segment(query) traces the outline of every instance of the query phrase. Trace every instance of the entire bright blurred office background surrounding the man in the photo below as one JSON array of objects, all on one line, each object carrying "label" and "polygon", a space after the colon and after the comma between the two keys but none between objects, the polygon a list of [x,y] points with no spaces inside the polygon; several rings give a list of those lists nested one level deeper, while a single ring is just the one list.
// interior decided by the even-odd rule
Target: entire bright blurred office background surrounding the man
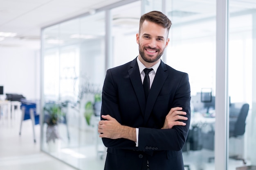
[{"label": "entire bright blurred office background surrounding the man", "polygon": [[139,18],[152,10],[173,23],[162,60],[190,78],[185,169],[256,166],[254,0],[0,2],[0,32],[20,31],[0,33],[0,169],[103,169],[106,70],[138,55]]}]

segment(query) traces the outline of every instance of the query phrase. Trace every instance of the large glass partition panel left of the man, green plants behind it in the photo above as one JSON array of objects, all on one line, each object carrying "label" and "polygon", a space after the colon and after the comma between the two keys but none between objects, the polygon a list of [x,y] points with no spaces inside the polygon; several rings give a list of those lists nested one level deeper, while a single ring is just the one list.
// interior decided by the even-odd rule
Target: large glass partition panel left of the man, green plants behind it
[{"label": "large glass partition panel left of the man, green plants behind it", "polygon": [[104,44],[104,11],[43,30],[41,148],[81,170],[104,166],[105,148],[97,133]]}]

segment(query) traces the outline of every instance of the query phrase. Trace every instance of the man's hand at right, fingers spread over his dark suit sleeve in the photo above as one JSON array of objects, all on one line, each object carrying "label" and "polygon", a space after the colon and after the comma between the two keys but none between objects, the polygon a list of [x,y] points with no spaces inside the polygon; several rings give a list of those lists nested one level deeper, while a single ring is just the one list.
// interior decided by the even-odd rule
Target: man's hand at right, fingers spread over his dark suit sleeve
[{"label": "man's hand at right, fingers spread over his dark suit sleeve", "polygon": [[188,120],[187,117],[182,116],[182,115],[186,115],[186,112],[181,110],[182,110],[182,107],[171,108],[168,115],[165,117],[164,126],[162,127],[162,129],[172,129],[173,126],[177,126],[177,125],[185,126],[186,123],[177,121],[177,120]]}]

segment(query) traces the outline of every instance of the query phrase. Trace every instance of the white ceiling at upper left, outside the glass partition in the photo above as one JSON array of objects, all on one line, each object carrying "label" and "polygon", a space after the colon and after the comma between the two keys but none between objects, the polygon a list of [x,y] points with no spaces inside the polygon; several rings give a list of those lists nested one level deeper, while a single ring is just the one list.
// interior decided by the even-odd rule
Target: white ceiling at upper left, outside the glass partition
[{"label": "white ceiling at upper left, outside the glass partition", "polygon": [[1,46],[40,48],[40,29],[121,0],[0,0],[0,32],[17,33]]}]

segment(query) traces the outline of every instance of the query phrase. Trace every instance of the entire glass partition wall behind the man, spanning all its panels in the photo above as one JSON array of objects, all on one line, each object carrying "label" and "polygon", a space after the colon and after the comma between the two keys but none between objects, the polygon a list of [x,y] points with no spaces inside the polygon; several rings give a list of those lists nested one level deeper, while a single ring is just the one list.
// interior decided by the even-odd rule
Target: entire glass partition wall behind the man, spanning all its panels
[{"label": "entire glass partition wall behind the man, spanning all its panels", "polygon": [[[249,104],[245,133],[228,141],[230,170],[256,164],[255,8],[255,2],[229,0],[228,110],[233,117],[228,120],[236,120],[231,112],[238,114],[233,104]],[[97,124],[106,69],[135,59],[139,18],[152,10],[164,12],[173,23],[162,60],[189,74],[191,127],[183,148],[185,169],[216,169],[216,0],[127,0],[43,28],[43,151],[77,169],[103,169],[106,148]],[[228,126],[230,130],[234,123]]]}]

